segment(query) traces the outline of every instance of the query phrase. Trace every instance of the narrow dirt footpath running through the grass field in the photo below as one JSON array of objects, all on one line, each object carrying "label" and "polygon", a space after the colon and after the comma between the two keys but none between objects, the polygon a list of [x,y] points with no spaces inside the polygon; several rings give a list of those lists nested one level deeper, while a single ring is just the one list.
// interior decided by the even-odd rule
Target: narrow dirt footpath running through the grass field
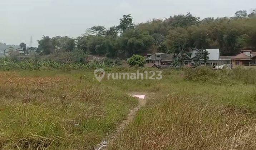
[{"label": "narrow dirt footpath running through the grass field", "polygon": [[112,143],[115,138],[124,130],[125,126],[127,126],[135,117],[136,112],[142,107],[146,105],[147,100],[149,99],[149,94],[145,93],[132,93],[129,95],[145,95],[145,99],[138,99],[139,103],[138,106],[135,107],[134,109],[130,110],[128,116],[126,117],[125,120],[117,127],[116,132],[113,134],[110,134],[109,136],[106,137],[105,140],[103,140],[100,144],[98,144],[94,150],[107,150],[107,146],[109,143]]}]

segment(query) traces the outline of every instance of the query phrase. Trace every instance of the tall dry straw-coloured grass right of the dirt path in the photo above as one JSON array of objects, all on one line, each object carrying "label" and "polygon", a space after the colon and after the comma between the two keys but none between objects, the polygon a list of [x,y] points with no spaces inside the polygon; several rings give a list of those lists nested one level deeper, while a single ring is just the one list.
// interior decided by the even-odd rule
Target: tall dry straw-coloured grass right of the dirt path
[{"label": "tall dry straw-coloured grass right of the dirt path", "polygon": [[109,149],[256,149],[256,117],[206,99],[161,97],[140,110]]}]

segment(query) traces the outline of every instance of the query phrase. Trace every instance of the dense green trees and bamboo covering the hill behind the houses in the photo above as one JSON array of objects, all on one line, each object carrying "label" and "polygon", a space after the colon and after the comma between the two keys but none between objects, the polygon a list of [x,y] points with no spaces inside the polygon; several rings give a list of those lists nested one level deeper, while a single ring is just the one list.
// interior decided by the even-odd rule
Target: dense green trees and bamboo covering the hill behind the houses
[{"label": "dense green trees and bamboo covering the hill behind the houses", "polygon": [[241,10],[233,17],[202,20],[188,12],[137,25],[128,14],[109,29],[93,26],[75,39],[43,36],[38,44],[38,52],[56,56],[78,51],[126,59],[134,54],[186,53],[190,48],[220,48],[222,55],[235,55],[241,48],[256,50],[256,9],[250,14]]}]

